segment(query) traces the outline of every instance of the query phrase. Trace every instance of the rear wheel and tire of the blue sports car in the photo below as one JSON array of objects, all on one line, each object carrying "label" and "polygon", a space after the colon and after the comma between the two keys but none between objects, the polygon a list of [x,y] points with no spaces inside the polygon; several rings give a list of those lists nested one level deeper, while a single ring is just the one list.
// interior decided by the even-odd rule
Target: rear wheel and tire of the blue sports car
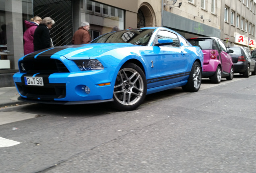
[{"label": "rear wheel and tire of the blue sports car", "polygon": [[196,92],[200,89],[201,82],[202,68],[199,62],[194,62],[188,77],[188,82],[186,83],[186,85],[182,86],[182,89],[188,92]]}]

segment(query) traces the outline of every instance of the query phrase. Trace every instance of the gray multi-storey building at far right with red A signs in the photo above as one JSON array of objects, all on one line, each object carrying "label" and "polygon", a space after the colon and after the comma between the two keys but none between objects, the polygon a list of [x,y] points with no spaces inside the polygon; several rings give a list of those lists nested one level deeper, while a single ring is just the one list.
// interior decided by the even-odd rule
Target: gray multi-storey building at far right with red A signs
[{"label": "gray multi-storey building at far right with red A signs", "polygon": [[[225,3],[224,3],[225,2]],[[221,4],[221,37],[229,46],[256,48],[256,1],[225,0]]]}]

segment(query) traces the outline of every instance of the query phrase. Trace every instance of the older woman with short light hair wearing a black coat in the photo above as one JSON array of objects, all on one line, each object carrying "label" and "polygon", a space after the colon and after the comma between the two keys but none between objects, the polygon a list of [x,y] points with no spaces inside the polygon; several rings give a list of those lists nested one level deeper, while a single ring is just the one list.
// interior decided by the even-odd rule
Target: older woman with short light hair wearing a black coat
[{"label": "older woman with short light hair wearing a black coat", "polygon": [[37,26],[34,32],[34,51],[51,47],[50,29],[54,23],[52,18],[46,17]]}]

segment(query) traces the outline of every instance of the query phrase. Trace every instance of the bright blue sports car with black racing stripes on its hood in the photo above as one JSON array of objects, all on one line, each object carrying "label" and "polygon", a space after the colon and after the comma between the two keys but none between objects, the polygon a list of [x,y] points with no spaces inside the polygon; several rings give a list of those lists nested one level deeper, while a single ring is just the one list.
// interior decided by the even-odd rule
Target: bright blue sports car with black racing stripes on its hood
[{"label": "bright blue sports car with black racing stripes on its hood", "polygon": [[19,60],[19,100],[50,104],[112,102],[136,109],[147,94],[201,85],[202,50],[173,30],[154,27],[103,34],[90,44],[39,50]]}]

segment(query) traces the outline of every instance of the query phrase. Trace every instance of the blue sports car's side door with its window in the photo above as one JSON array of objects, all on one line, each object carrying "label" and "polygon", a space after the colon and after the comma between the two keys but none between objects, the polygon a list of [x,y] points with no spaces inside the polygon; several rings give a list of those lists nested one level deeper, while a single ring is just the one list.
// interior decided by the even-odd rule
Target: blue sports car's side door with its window
[{"label": "blue sports car's side door with its window", "polygon": [[184,80],[187,77],[184,76],[184,73],[188,68],[188,54],[180,46],[178,36],[167,30],[160,30],[157,33],[155,43],[160,38],[172,39],[173,44],[153,46],[152,51],[147,52],[147,58],[145,58],[147,64],[153,66],[151,67],[152,70],[155,69],[155,75],[151,73],[151,76],[154,76],[152,81],[157,82],[157,87]]}]

